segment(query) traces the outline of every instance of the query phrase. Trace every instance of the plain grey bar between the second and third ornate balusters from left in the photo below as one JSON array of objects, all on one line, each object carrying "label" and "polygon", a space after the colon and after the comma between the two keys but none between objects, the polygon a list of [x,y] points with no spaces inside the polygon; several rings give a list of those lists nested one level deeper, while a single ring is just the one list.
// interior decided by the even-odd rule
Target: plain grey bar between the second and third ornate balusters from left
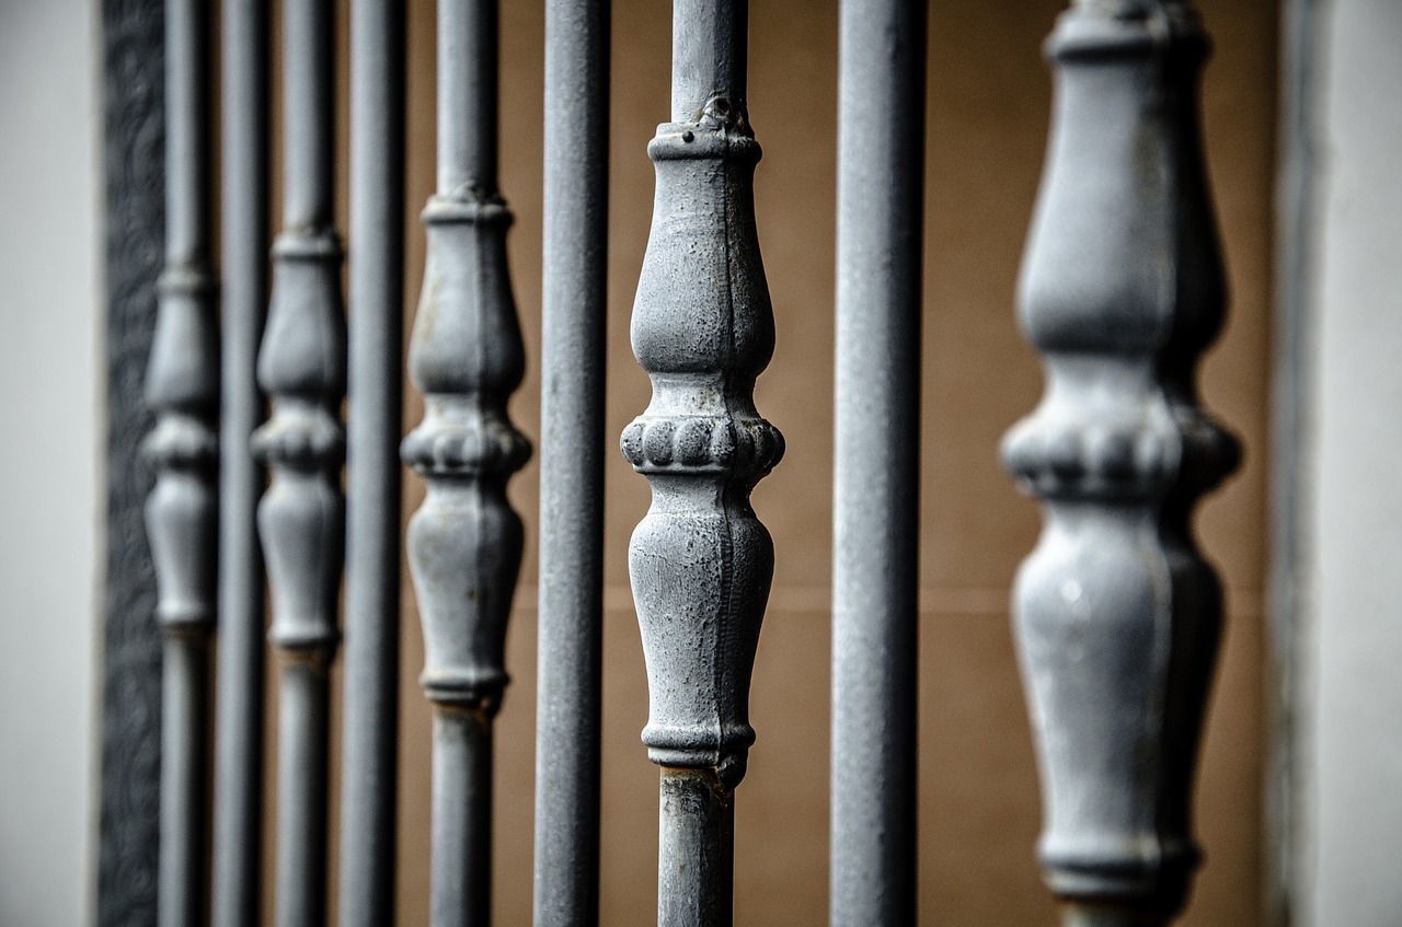
[{"label": "plain grey bar between the second and third ornate balusters from left", "polygon": [[341,762],[345,927],[394,920],[404,326],[404,6],[350,4],[349,419]]}]

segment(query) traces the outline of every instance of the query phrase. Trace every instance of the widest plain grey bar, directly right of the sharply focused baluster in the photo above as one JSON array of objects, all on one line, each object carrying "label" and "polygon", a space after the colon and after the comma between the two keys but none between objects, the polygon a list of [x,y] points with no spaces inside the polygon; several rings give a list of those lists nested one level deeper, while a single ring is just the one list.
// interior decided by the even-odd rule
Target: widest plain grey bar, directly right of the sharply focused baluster
[{"label": "widest plain grey bar, directly right of the sharply focused baluster", "polygon": [[840,14],[834,926],[916,921],[925,15],[923,0]]}]

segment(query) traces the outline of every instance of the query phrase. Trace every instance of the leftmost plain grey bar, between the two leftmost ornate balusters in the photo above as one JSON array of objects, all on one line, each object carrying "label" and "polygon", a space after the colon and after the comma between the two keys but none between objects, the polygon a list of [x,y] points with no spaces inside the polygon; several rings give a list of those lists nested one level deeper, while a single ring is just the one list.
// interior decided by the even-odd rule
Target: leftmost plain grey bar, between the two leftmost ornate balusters
[{"label": "leftmost plain grey bar, between the two leftmost ornate balusters", "polygon": [[251,437],[264,403],[255,364],[268,307],[268,4],[223,4],[223,424],[219,695],[215,728],[215,927],[254,927],[262,843],[264,487]]}]

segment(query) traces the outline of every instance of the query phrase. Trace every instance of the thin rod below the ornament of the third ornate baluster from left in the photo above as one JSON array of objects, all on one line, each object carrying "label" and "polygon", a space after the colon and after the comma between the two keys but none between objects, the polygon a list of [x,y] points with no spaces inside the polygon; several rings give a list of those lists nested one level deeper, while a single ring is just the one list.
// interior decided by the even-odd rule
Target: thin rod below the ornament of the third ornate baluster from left
[{"label": "thin rod below the ornament of the third ornate baluster from left", "polygon": [[432,927],[492,923],[492,720],[433,710]]}]

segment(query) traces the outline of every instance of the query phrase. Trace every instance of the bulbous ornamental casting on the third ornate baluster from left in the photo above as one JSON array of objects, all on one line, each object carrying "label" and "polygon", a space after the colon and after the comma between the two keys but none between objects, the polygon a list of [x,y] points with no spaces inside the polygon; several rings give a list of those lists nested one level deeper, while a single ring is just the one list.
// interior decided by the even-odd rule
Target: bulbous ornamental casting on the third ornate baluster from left
[{"label": "bulbous ornamental casting on the third ornate baluster from left", "polygon": [[423,622],[421,682],[436,704],[495,714],[524,543],[506,480],[530,458],[506,414],[524,370],[506,272],[512,214],[495,189],[470,188],[433,196],[423,224],[428,262],[409,370],[425,412],[401,448],[428,482],[408,539]]}]

